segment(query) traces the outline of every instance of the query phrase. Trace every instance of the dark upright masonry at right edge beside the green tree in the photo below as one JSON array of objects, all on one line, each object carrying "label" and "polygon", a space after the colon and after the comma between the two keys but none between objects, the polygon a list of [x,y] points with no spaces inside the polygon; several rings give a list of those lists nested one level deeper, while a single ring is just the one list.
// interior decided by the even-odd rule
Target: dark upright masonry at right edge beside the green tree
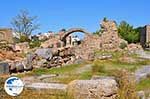
[{"label": "dark upright masonry at right edge beside the green tree", "polygon": [[140,43],[145,47],[150,47],[150,25],[146,25],[141,30]]}]

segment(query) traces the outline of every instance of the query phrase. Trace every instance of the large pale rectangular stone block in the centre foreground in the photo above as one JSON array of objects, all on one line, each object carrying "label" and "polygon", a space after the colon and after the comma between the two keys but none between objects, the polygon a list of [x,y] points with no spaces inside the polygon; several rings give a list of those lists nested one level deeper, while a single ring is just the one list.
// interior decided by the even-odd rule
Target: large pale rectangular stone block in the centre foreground
[{"label": "large pale rectangular stone block in the centre foreground", "polygon": [[68,85],[68,94],[74,99],[116,99],[114,79],[75,80]]}]

